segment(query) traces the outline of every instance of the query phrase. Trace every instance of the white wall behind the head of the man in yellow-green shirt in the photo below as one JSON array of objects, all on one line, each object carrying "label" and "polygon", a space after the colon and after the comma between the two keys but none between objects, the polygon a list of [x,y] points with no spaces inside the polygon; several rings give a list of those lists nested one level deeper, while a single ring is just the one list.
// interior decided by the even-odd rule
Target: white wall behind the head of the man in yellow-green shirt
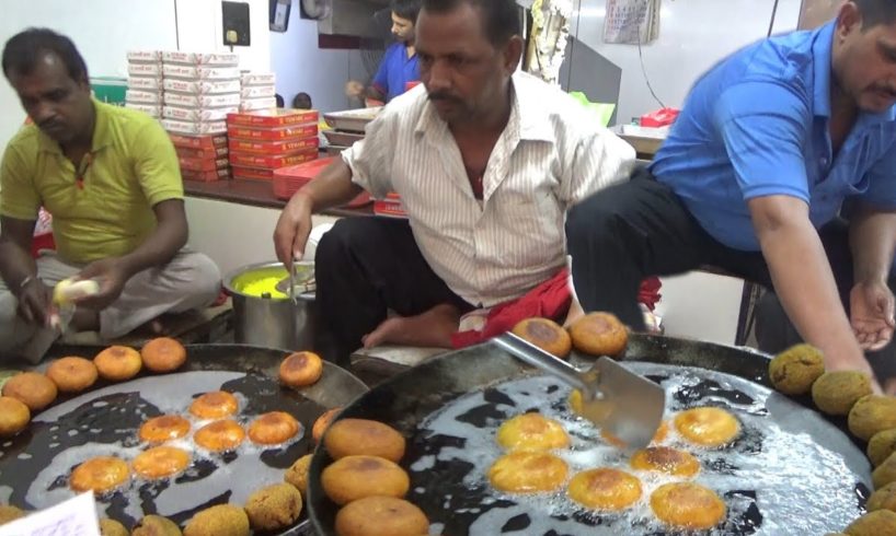
[{"label": "white wall behind the head of the man in yellow-green shirt", "polygon": [[[3,0],[0,43],[28,26],[47,26],[74,42],[92,75],[125,77],[128,49],[222,49],[220,0]],[[267,0],[249,0],[251,47],[237,47],[240,67],[271,69]],[[175,16],[176,7],[176,16]],[[176,20],[176,26],[175,26]],[[176,28],[176,30],[175,30]],[[15,93],[0,82],[0,147],[25,114]]]}]

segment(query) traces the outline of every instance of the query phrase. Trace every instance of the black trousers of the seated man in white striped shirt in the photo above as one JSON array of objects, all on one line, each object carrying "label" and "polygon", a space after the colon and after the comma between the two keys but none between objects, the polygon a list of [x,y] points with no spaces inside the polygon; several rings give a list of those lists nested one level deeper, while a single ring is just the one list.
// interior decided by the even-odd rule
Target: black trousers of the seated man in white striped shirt
[{"label": "black trousers of the seated man in white striped shirt", "polygon": [[347,363],[390,310],[401,316],[446,303],[472,310],[423,258],[405,220],[341,219],[318,244],[314,277],[329,339],[319,350],[337,363]]}]

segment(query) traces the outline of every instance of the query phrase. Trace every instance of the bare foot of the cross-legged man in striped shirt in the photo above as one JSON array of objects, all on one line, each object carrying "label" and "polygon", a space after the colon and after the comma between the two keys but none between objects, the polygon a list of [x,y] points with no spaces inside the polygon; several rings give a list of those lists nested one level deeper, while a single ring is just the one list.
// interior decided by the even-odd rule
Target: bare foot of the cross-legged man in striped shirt
[{"label": "bare foot of the cross-legged man in striped shirt", "polygon": [[393,316],[361,338],[364,348],[393,343],[416,347],[451,348],[451,335],[457,333],[460,311],[441,304],[416,316]]}]

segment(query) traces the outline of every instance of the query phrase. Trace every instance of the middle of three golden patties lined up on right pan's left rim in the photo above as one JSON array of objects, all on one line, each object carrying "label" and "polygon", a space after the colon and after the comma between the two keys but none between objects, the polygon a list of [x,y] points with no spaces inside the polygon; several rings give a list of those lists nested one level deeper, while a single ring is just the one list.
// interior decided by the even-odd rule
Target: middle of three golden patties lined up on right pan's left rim
[{"label": "middle of three golden patties lined up on right pan's left rim", "polygon": [[336,504],[372,496],[402,498],[411,480],[394,463],[376,456],[346,456],[321,474],[321,486]]}]

